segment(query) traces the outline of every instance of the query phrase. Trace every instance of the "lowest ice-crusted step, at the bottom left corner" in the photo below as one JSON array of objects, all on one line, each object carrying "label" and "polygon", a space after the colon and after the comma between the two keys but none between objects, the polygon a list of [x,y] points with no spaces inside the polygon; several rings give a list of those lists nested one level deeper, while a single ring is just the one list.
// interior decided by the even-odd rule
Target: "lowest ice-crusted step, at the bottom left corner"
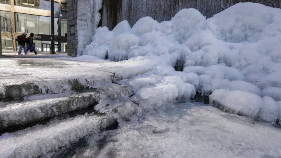
[{"label": "lowest ice-crusted step, at the bottom left corner", "polygon": [[115,123],[113,115],[91,113],[5,133],[0,139],[0,157],[39,157]]}]

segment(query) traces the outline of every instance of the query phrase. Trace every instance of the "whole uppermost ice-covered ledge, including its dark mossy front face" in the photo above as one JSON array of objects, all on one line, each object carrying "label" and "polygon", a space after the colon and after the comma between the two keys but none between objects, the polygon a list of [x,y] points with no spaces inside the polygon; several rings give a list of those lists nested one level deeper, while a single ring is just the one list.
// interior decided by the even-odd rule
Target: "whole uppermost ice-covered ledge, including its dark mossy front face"
[{"label": "whole uppermost ice-covered ledge, including its dark mossy front face", "polygon": [[[120,78],[144,73],[153,66],[149,61],[121,64],[93,58],[87,55],[78,58],[0,58],[0,100],[38,93],[56,94],[79,87],[101,87]],[[136,68],[140,70],[135,71]]]}]

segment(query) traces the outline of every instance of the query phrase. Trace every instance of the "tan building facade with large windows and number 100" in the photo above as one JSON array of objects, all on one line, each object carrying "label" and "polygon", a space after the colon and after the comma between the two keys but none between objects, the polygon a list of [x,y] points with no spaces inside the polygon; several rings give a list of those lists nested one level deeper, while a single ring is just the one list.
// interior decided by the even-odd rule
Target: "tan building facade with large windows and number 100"
[{"label": "tan building facade with large windows and number 100", "polygon": [[[2,50],[18,50],[16,36],[26,32],[27,37],[35,34],[33,42],[38,51],[51,51],[51,1],[0,0],[0,15]],[[58,34],[61,51],[68,51],[67,29],[67,0],[54,0],[55,51]]]}]

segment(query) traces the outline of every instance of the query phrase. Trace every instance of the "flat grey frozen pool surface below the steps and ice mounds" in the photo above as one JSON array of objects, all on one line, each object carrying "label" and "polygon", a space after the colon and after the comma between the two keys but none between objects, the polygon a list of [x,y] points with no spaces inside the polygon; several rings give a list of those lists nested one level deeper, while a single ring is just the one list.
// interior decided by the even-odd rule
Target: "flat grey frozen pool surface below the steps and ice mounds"
[{"label": "flat grey frozen pool surface below the steps and ice mounds", "polygon": [[119,125],[86,137],[87,145],[68,157],[281,156],[281,128],[200,103],[173,104]]}]

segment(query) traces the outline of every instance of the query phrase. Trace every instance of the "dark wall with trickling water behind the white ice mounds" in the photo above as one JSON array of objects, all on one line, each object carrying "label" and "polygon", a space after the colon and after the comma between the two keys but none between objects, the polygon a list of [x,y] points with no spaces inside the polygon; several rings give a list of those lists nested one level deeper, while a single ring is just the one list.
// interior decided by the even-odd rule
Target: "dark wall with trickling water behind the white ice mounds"
[{"label": "dark wall with trickling water behind the white ice mounds", "polygon": [[184,8],[195,8],[209,18],[239,2],[261,3],[273,8],[281,6],[281,0],[103,0],[101,26],[112,30],[116,24],[127,20],[132,27],[145,16],[158,22],[169,21]]}]

